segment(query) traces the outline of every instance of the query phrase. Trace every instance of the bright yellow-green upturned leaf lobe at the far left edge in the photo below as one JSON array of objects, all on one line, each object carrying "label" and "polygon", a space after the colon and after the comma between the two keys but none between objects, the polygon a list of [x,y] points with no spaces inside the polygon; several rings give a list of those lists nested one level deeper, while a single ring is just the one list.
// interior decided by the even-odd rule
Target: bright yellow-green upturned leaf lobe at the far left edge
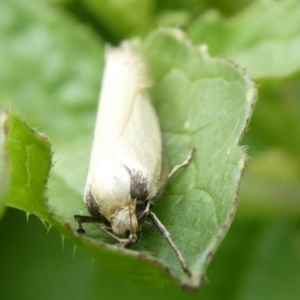
[{"label": "bright yellow-green upturned leaf lobe at the far left edge", "polygon": [[46,221],[45,190],[51,165],[50,143],[46,136],[34,132],[13,112],[3,111],[3,115],[6,153],[1,158],[4,158],[6,167],[2,170],[5,180],[9,181],[7,204]]}]

